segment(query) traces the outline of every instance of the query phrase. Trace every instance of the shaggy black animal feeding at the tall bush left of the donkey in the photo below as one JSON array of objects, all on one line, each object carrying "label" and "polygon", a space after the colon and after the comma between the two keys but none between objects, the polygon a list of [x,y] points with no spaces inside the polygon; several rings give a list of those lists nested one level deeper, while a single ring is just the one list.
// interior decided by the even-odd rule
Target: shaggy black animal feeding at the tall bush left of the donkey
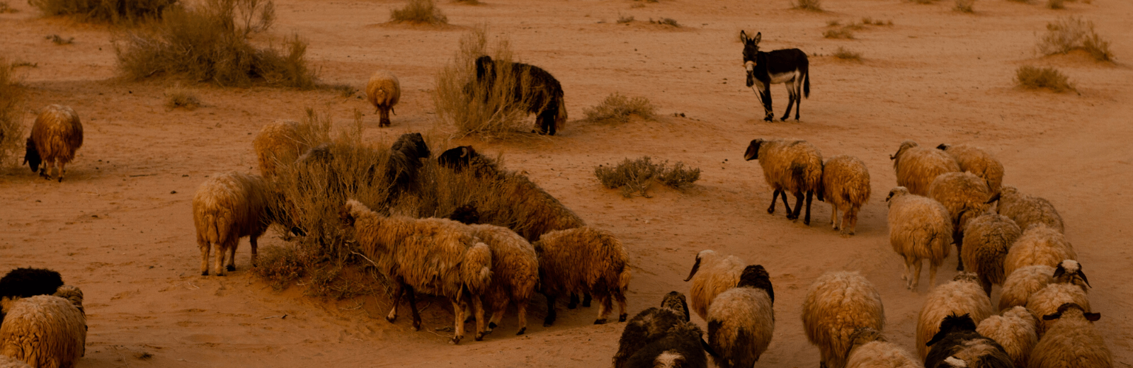
[{"label": "shaggy black animal feeding at the tall bush left of the donkey", "polygon": [[[497,72],[510,76],[497,78]],[[509,82],[511,86],[495,86],[496,79]],[[536,114],[535,126],[539,134],[555,135],[566,126],[566,105],[563,87],[543,68],[522,62],[496,62],[492,57],[476,59],[476,85],[491,95],[493,88],[511,88],[512,103],[526,103],[528,113]],[[506,91],[503,92],[506,95]]]}]

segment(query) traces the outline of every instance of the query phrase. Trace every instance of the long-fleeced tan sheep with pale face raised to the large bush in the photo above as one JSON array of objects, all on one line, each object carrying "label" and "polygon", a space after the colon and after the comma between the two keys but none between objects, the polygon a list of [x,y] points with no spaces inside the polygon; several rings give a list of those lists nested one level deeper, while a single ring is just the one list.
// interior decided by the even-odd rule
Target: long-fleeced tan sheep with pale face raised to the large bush
[{"label": "long-fleeced tan sheep with pale face raised to the large bush", "polygon": [[465,309],[471,299],[476,340],[484,339],[480,296],[492,282],[492,251],[459,222],[444,219],[382,216],[355,199],[339,211],[342,225],[353,230],[358,247],[382,274],[394,282],[393,308],[385,319],[398,318],[398,303],[408,294],[412,328],[420,328],[416,292],[448,297],[455,315],[451,343],[465,337]]}]

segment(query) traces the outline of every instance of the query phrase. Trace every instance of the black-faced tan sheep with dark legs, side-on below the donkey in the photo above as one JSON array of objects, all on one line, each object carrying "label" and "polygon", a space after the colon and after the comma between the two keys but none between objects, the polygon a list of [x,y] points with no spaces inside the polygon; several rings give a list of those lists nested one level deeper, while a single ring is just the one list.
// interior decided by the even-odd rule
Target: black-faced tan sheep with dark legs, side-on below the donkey
[{"label": "black-faced tan sheep with dark legs, side-on below the donkey", "polygon": [[[789,220],[799,219],[802,197],[807,197],[807,215],[803,224],[810,224],[810,200],[816,194],[823,200],[823,154],[817,147],[800,139],[752,139],[743,153],[743,160],[759,160],[764,169],[764,180],[774,189],[772,205],[767,213],[775,213],[775,199],[782,194],[783,206]],[[786,195],[794,195],[794,211],[786,203]]]}]

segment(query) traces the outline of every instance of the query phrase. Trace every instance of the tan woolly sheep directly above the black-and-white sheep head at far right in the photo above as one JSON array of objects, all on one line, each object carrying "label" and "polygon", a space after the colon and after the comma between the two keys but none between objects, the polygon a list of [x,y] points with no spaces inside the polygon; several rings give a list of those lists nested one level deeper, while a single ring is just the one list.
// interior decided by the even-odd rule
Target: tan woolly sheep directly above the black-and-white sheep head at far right
[{"label": "tan woolly sheep directly above the black-and-white sheep head at far right", "polygon": [[1064,259],[1077,259],[1077,254],[1070,241],[1066,241],[1066,237],[1045,224],[1031,224],[1007,250],[1007,256],[1003,258],[1003,272],[1010,276],[1024,266],[1055,267]]}]

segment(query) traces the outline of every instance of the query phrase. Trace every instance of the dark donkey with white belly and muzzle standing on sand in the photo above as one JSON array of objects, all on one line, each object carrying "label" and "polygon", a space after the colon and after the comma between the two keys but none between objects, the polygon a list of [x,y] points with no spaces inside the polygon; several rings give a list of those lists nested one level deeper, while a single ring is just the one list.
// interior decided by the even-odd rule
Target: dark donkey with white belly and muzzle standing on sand
[{"label": "dark donkey with white belly and muzzle standing on sand", "polygon": [[743,40],[743,68],[748,70],[748,87],[756,91],[763,100],[764,112],[767,113],[764,120],[772,121],[775,117],[772,111],[772,85],[785,84],[791,100],[786,104],[786,113],[780,120],[791,117],[792,104],[795,108],[794,120],[799,120],[802,97],[810,97],[810,71],[808,71],[810,62],[807,61],[807,53],[799,49],[763,52],[759,51],[760,38],[763,33],[757,32],[755,37],[748,37],[746,32],[740,31],[740,40]]}]

